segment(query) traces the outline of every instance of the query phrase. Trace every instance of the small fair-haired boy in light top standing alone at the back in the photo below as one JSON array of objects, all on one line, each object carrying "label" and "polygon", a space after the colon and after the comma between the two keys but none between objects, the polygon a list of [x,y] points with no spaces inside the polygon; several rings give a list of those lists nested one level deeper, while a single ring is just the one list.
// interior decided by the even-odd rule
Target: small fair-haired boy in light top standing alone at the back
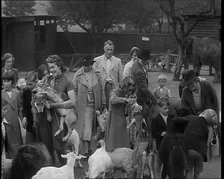
[{"label": "small fair-haired boy in light top standing alone at the back", "polygon": [[160,74],[158,77],[158,83],[159,86],[153,90],[153,95],[155,96],[157,101],[161,98],[169,100],[169,98],[171,97],[171,92],[168,88],[165,87],[167,83],[167,76],[164,74]]}]

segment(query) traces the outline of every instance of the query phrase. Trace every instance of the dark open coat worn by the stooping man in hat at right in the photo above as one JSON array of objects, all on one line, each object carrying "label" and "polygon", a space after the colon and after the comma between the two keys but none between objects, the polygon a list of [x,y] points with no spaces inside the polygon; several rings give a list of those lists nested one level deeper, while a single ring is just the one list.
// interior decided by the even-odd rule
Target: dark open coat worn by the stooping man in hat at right
[{"label": "dark open coat worn by the stooping man in hat at right", "polygon": [[[214,88],[208,81],[199,81],[199,83],[201,86],[201,111],[213,109],[218,116],[219,103]],[[187,87],[182,91],[181,107],[188,109],[193,115],[198,115],[194,104],[193,93]]]}]

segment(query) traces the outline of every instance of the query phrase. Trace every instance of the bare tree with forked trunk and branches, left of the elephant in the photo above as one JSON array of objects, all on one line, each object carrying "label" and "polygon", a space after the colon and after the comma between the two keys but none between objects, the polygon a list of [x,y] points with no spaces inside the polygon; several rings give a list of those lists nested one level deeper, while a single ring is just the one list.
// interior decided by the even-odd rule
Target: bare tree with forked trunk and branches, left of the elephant
[{"label": "bare tree with forked trunk and branches, left of the elephant", "polygon": [[[179,80],[182,65],[188,68],[188,61],[185,57],[186,40],[190,32],[195,28],[198,22],[205,20],[203,15],[214,13],[215,0],[210,0],[210,5],[205,1],[184,1],[184,0],[160,0],[160,8],[166,14],[169,24],[172,26],[172,34],[174,35],[178,46],[178,60],[174,71],[173,80]],[[195,13],[192,10],[197,7],[197,18],[191,27],[186,27],[185,20],[182,16],[184,10],[188,13]]]}]

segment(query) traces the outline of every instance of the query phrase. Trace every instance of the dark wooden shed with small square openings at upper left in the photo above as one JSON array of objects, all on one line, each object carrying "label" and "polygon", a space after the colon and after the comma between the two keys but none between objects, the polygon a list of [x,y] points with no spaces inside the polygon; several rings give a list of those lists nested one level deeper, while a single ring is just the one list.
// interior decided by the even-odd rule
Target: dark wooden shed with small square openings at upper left
[{"label": "dark wooden shed with small square openings at upper left", "polygon": [[2,17],[2,55],[10,52],[20,71],[35,70],[55,53],[56,16]]}]

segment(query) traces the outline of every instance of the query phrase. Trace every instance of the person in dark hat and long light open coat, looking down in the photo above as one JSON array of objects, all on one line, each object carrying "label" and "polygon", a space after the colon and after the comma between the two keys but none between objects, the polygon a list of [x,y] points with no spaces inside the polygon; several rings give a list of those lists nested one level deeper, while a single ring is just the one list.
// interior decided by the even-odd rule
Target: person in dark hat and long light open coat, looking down
[{"label": "person in dark hat and long light open coat, looking down", "polygon": [[91,56],[82,58],[82,67],[73,78],[78,114],[75,129],[81,141],[80,153],[87,157],[92,154],[90,142],[93,130],[96,129],[95,111],[106,104],[101,75],[92,67],[93,63]]}]

